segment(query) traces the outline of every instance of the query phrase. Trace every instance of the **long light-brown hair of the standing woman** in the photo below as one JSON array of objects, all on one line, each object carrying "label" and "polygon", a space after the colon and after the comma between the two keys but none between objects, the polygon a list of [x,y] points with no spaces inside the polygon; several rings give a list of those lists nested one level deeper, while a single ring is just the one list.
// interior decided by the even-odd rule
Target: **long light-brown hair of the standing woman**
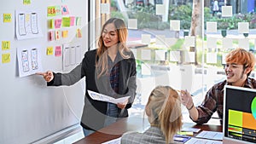
[{"label": "long light-brown hair of the standing woman", "polygon": [[105,22],[105,24],[102,26],[102,32],[101,36],[98,40],[98,49],[96,51],[96,72],[98,73],[97,78],[100,78],[102,74],[107,73],[108,71],[108,54],[106,53],[107,47],[103,43],[103,37],[102,33],[104,31],[105,26],[108,24],[113,23],[115,26],[118,37],[119,37],[119,43],[118,43],[118,50],[119,54],[124,59],[129,59],[131,57],[131,50],[126,47],[126,39],[128,36],[128,30],[125,26],[124,20],[118,19],[118,18],[111,18]]}]

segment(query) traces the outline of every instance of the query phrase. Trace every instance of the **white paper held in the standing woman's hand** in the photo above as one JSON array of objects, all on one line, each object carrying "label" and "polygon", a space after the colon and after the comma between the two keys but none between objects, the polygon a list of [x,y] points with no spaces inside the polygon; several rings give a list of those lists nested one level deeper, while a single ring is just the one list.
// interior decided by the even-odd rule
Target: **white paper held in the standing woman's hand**
[{"label": "white paper held in the standing woman's hand", "polygon": [[125,97],[115,99],[115,98],[110,97],[108,95],[102,95],[102,94],[96,93],[95,91],[91,91],[91,90],[88,90],[88,94],[90,95],[90,98],[92,98],[93,100],[106,101],[106,102],[111,102],[111,103],[114,103],[114,104],[123,103],[126,100],[128,100],[129,97],[130,97],[130,96],[125,96]]}]

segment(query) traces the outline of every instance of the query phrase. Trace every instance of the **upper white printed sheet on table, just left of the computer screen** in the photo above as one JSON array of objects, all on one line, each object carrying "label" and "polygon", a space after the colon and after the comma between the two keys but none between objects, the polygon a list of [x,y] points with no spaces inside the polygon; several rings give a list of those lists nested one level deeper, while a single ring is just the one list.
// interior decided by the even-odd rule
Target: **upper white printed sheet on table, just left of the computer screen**
[{"label": "upper white printed sheet on table, just left of the computer screen", "polygon": [[203,131],[201,131],[201,133],[199,133],[195,137],[204,138],[204,139],[212,139],[212,140],[222,140],[223,139],[223,133],[222,132],[216,132],[216,131],[203,130]]}]

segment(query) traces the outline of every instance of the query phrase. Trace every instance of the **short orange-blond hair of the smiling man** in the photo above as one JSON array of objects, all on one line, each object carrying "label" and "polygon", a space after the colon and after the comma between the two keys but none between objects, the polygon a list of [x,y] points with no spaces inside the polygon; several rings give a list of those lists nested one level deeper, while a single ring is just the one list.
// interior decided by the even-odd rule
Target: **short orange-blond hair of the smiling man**
[{"label": "short orange-blond hair of the smiling man", "polygon": [[228,55],[226,55],[226,63],[236,63],[239,65],[243,65],[243,68],[250,68],[251,71],[248,75],[253,71],[255,65],[255,57],[254,55],[247,51],[246,49],[233,49],[230,51]]}]

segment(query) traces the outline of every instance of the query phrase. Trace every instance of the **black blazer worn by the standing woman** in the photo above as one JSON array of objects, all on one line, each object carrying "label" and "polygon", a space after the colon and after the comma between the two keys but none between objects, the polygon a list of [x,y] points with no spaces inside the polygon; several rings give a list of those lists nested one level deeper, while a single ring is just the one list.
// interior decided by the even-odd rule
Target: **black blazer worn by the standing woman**
[{"label": "black blazer worn by the standing woman", "polygon": [[[115,98],[130,95],[130,99],[125,109],[119,109],[118,118],[128,117],[127,109],[131,107],[136,95],[136,61],[131,52],[130,59],[123,59],[120,55],[119,58],[119,94],[113,95]],[[84,111],[82,114],[81,125],[85,129],[100,130],[104,126],[107,113],[108,103],[104,101],[95,101],[88,95],[88,89],[108,95],[107,89],[108,76],[96,78],[96,49],[87,51],[84,59],[79,66],[76,66],[71,72],[68,73],[54,73],[54,79],[48,85],[72,85],[78,82],[81,78],[85,77],[86,93],[84,96]],[[107,83],[107,84],[106,84]]]}]

